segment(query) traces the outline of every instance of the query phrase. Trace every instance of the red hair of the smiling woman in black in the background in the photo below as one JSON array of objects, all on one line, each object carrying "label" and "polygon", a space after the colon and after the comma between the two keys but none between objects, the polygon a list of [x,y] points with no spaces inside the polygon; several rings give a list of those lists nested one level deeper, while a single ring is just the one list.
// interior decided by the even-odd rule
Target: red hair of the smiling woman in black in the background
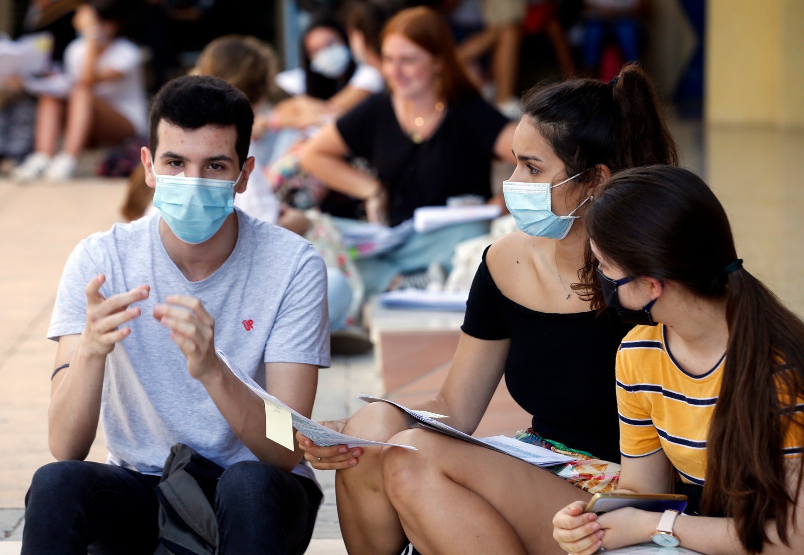
[{"label": "red hair of the smiling woman in black in the background", "polygon": [[445,101],[454,102],[467,94],[478,94],[478,88],[458,60],[449,25],[436,10],[417,6],[400,11],[385,25],[382,39],[396,34],[403,35],[441,61],[440,93]]}]

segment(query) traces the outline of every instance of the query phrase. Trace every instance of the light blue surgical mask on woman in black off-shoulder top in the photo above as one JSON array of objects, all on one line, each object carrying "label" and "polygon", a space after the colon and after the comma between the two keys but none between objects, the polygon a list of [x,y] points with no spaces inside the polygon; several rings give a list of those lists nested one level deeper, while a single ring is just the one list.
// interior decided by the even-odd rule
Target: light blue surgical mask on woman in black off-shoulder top
[{"label": "light blue surgical mask on woman in black off-shoulder top", "polygon": [[[583,171],[580,174],[584,173]],[[535,237],[547,237],[548,239],[564,239],[572,228],[572,222],[580,216],[572,216],[578,208],[583,206],[591,196],[570,212],[567,216],[556,216],[552,212],[550,203],[550,191],[559,185],[564,185],[578,177],[576,174],[571,178],[564,179],[561,183],[551,185],[550,183],[525,183],[521,181],[503,181],[503,196],[508,212],[514,216],[516,225],[523,232]]]}]

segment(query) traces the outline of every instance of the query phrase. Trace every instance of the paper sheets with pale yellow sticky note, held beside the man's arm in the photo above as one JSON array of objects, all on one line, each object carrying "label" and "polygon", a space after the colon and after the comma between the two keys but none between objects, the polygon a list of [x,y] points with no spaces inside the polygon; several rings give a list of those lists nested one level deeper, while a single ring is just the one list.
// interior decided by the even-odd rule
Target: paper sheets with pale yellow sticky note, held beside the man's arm
[{"label": "paper sheets with pale yellow sticky note, held beside the man's arm", "polygon": [[285,405],[285,403],[277,399],[277,397],[273,397],[273,395],[267,393],[265,389],[262,389],[260,385],[256,383],[256,381],[252,380],[251,376],[248,376],[248,374],[242,372],[240,368],[237,368],[236,364],[234,364],[231,360],[228,360],[223,351],[220,349],[215,349],[215,352],[220,357],[220,360],[223,360],[224,364],[226,364],[229,369],[232,370],[232,373],[237,376],[238,380],[246,384],[248,389],[251,389],[254,393],[256,393],[257,397],[260,397],[260,399],[265,401],[266,437],[289,450],[293,450],[296,446],[296,442],[293,439],[293,428],[296,428],[296,430],[299,430],[302,434],[305,434],[308,438],[310,438],[310,441],[320,446],[345,444],[349,446],[350,449],[352,447],[363,446],[395,446],[404,447],[404,449],[416,450],[415,447],[407,445],[399,445],[398,443],[372,442],[367,439],[352,438],[347,434],[341,434],[335,430],[330,430],[326,426],[322,426],[321,424],[318,424],[318,422],[310,420],[310,418],[304,416],[303,414],[297,413],[288,405]]}]

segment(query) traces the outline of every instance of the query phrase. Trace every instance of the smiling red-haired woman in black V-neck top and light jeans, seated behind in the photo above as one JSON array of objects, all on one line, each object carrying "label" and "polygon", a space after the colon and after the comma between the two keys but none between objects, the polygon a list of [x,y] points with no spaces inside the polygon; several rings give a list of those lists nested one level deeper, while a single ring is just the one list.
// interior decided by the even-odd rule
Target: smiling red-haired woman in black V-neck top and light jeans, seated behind
[{"label": "smiling red-haired woman in black V-neck top and light jeans, seated behind", "polygon": [[[424,6],[402,10],[384,29],[382,60],[390,93],[322,128],[302,151],[302,168],[331,190],[365,200],[369,220],[392,226],[451,197],[502,203],[491,198],[491,160],[515,162],[515,125],[470,82],[445,19]],[[365,158],[376,177],[351,166],[349,155]],[[488,224],[478,222],[416,232],[396,249],[358,259],[367,293],[434,263],[449,270],[455,245],[486,232]]]}]

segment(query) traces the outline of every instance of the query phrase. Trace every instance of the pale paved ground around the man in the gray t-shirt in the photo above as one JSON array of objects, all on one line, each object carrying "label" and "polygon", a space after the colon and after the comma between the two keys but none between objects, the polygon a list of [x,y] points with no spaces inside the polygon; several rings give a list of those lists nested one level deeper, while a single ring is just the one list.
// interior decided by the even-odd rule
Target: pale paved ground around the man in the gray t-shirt
[{"label": "pale paved ground around the man in the gray t-shirt", "polygon": [[[118,220],[125,182],[82,179],[19,186],[0,180],[0,555],[18,553],[23,505],[33,472],[52,460],[47,450],[49,372],[55,343],[45,337],[61,269],[76,243]],[[339,418],[379,394],[373,356],[335,357],[322,370],[314,418]],[[103,461],[96,440],[90,454]],[[308,553],[345,553],[331,472],[319,472],[326,499]]]}]

